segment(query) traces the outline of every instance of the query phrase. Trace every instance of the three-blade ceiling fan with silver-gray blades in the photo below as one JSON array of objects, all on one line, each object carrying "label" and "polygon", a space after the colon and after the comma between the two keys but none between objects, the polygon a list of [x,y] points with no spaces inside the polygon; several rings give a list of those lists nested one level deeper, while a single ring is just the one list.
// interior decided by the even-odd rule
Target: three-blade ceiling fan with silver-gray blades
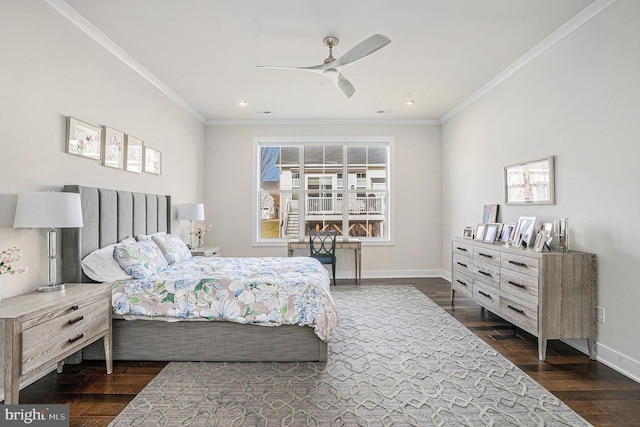
[{"label": "three-blade ceiling fan with silver-gray blades", "polygon": [[391,43],[391,39],[382,34],[374,34],[368,39],[360,42],[347,53],[342,55],[340,58],[336,59],[333,57],[333,48],[336,47],[339,40],[335,37],[325,37],[324,45],[329,48],[329,56],[324,60],[324,62],[320,65],[314,65],[311,67],[284,67],[284,66],[268,66],[268,65],[258,65],[258,68],[277,68],[283,70],[306,70],[311,71],[318,74],[323,74],[329,79],[331,79],[340,92],[344,94],[347,98],[351,98],[356,89],[353,85],[347,80],[340,69],[346,65],[349,65],[353,62],[356,62],[365,56],[371,55],[373,52],[381,49]]}]

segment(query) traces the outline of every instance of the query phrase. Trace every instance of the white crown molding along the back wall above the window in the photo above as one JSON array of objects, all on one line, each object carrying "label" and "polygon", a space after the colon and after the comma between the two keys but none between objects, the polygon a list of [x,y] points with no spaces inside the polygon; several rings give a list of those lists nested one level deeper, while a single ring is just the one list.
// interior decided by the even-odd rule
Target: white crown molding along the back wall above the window
[{"label": "white crown molding along the back wall above the window", "polygon": [[209,120],[207,126],[313,126],[313,125],[363,125],[363,126],[439,126],[440,120]]}]

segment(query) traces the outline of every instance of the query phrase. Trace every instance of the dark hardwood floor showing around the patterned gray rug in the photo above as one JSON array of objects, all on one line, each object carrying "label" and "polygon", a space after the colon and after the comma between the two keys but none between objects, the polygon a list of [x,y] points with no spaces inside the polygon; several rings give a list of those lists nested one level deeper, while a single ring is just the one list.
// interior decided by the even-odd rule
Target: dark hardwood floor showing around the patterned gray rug
[{"label": "dark hardwood floor showing around the patterned gray rug", "polygon": [[[511,362],[595,426],[640,426],[640,383],[560,342],[538,360],[536,340],[474,302],[456,296],[442,279],[368,279],[364,284],[412,284]],[[352,284],[338,281],[338,285]],[[166,365],[118,362],[106,375],[103,363],[66,365],[20,392],[20,403],[68,404],[71,426],[106,426]]]}]

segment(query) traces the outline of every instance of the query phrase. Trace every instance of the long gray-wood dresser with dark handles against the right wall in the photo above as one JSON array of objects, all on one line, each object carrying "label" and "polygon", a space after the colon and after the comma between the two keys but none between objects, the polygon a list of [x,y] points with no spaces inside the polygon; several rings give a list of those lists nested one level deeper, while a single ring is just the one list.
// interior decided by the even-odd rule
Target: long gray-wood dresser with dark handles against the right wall
[{"label": "long gray-wood dresser with dark handles against the right wall", "polygon": [[451,302],[456,292],[538,338],[583,338],[595,359],[596,256],[585,252],[535,252],[455,238]]}]

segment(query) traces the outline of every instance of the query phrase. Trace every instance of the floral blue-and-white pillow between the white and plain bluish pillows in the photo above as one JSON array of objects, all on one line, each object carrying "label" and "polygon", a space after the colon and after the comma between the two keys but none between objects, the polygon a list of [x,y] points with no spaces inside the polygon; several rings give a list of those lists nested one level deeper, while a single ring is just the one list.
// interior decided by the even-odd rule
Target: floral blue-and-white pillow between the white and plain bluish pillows
[{"label": "floral blue-and-white pillow between the white and plain bluish pillows", "polygon": [[169,266],[162,251],[152,240],[117,246],[113,256],[120,267],[136,279],[146,279]]}]

